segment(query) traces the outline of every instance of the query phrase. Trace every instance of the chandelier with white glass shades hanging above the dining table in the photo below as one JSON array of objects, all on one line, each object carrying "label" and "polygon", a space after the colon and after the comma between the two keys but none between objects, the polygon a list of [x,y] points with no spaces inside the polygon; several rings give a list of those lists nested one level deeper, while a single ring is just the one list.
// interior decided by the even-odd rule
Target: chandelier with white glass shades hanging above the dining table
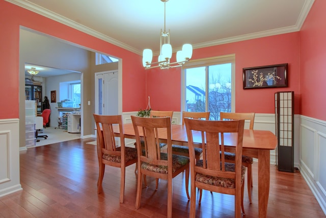
[{"label": "chandelier with white glass shades hanging above the dining table", "polygon": [[[165,29],[165,18],[166,18],[166,2],[169,0],[161,0],[164,2],[164,32],[160,33],[160,44],[159,44],[159,56],[157,62],[152,62],[153,52],[150,49],[144,49],[143,51],[143,66],[145,69],[159,67],[160,69],[169,69],[172,67],[179,67],[184,62],[189,61],[193,55],[193,46],[191,44],[184,44],[182,50],[177,52],[176,62],[170,63],[172,57],[172,46],[170,44],[170,30],[169,32]],[[156,66],[151,66],[157,64]]]}]

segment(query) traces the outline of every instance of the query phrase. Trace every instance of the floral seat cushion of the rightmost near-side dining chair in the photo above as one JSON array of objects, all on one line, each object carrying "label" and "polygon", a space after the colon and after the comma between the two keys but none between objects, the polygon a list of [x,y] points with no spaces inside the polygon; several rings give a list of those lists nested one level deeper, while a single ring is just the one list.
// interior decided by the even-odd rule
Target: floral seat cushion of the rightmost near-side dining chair
[{"label": "floral seat cushion of the rightmost near-side dining chair", "polygon": [[[202,167],[203,160],[197,161],[196,165]],[[221,165],[222,165],[222,163],[221,163]],[[225,171],[234,172],[235,164],[234,163],[225,163]],[[246,173],[246,167],[241,166],[241,182],[244,179],[245,173]],[[203,174],[196,174],[196,181],[205,183],[205,184],[209,184],[209,185],[225,187],[225,188],[235,188],[234,179],[214,177],[214,176],[208,176],[208,175],[203,175]]]}]

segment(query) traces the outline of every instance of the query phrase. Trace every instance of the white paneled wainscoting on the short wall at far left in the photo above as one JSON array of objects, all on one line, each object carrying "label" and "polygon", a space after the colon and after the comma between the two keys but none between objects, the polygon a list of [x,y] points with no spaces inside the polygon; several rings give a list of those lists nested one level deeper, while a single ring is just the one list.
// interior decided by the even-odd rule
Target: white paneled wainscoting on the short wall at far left
[{"label": "white paneled wainscoting on the short wall at far left", "polygon": [[0,197],[21,190],[19,119],[0,119]]}]

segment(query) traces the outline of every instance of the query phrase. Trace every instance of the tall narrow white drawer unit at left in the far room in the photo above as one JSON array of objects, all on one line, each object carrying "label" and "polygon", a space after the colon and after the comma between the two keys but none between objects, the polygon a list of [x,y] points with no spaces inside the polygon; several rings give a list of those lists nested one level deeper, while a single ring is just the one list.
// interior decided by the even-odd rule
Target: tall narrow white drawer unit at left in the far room
[{"label": "tall narrow white drawer unit at left in the far room", "polygon": [[25,144],[26,147],[35,146],[35,101],[25,101]]}]

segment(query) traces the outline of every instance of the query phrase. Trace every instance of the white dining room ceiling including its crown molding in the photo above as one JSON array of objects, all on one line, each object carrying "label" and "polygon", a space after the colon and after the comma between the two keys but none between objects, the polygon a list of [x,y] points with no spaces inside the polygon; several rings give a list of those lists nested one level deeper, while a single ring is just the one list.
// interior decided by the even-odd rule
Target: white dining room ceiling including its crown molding
[{"label": "white dining room ceiling including its crown molding", "polygon": [[[6,0],[142,54],[159,51],[160,0]],[[299,31],[314,0],[169,0],[166,29],[174,52]]]}]

